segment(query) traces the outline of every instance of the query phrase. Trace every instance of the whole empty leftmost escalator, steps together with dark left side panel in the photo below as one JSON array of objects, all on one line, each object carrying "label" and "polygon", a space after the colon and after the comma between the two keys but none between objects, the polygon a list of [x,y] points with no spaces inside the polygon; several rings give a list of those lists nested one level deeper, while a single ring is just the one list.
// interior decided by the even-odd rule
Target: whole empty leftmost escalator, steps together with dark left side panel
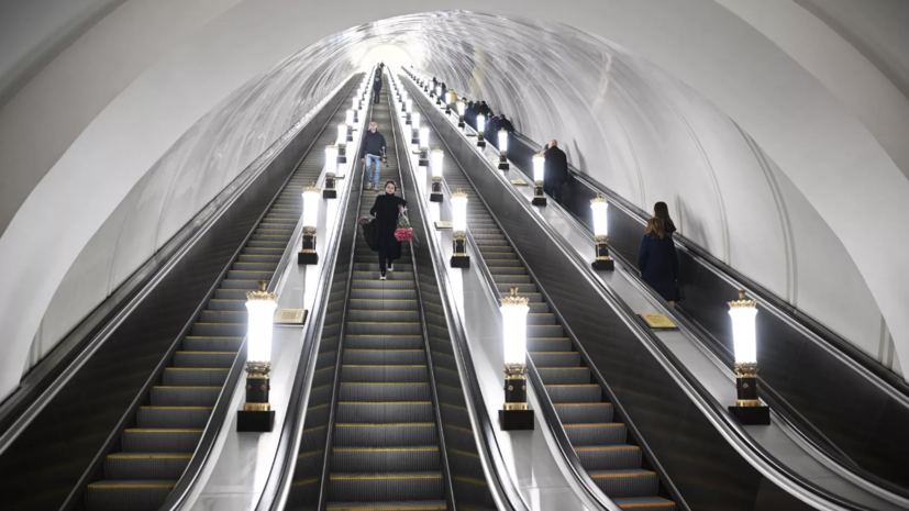
[{"label": "whole empty leftmost escalator, steps together with dark left side panel", "polygon": [[[95,413],[86,413],[85,410],[79,413],[78,406],[75,410],[74,407],[68,407],[67,411],[79,413],[68,435],[54,437],[45,433],[46,440],[42,445],[46,447],[37,452],[43,455],[48,448],[58,449],[55,464],[26,462],[21,464],[19,471],[9,470],[9,465],[20,463],[18,459],[21,459],[24,446],[41,443],[40,431],[33,434],[24,430],[7,447],[0,460],[7,488],[4,507],[88,511],[156,510],[168,500],[175,487],[181,486],[181,478],[198,474],[189,474],[187,467],[191,462],[197,463],[193,459],[195,455],[199,456],[197,449],[203,453],[201,456],[204,458],[214,435],[211,434],[211,440],[204,447],[200,446],[200,441],[203,435],[206,438],[210,436],[207,427],[217,431],[222,426],[233,382],[242,373],[245,357],[246,292],[271,281],[276,271],[279,271],[279,264],[287,257],[288,243],[299,227],[301,191],[320,178],[324,168],[324,153],[319,149],[334,142],[334,126],[344,120],[345,113],[339,107],[356,93],[351,87],[355,80],[345,84],[340,93],[326,100],[323,110],[311,121],[311,124],[319,122],[318,125],[300,127],[297,132],[301,134],[300,140],[281,141],[285,143],[281,151],[287,151],[277,153],[274,159],[265,164],[268,165],[267,169],[278,168],[278,171],[254,175],[250,181],[234,187],[235,199],[229,201],[225,210],[215,215],[219,218],[214,221],[222,224],[215,223],[208,227],[209,232],[200,234],[210,236],[211,241],[202,238],[202,242],[197,243],[198,246],[188,246],[187,252],[181,254],[184,259],[189,259],[186,263],[189,266],[168,268],[176,274],[173,276],[175,280],[182,280],[185,288],[203,290],[206,298],[190,306],[196,310],[192,316],[195,319],[187,322],[186,315],[179,315],[163,306],[169,303],[167,300],[188,301],[179,292],[175,293],[174,288],[162,290],[163,299],[155,295],[158,292],[155,289],[147,291],[147,296],[152,297],[148,299],[152,300],[148,306],[152,312],[148,314],[158,312],[160,318],[155,321],[168,322],[168,329],[175,329],[174,323],[185,324],[181,330],[176,327],[180,332],[179,336],[168,338],[164,329],[136,332],[142,326],[135,326],[135,323],[131,323],[132,318],[128,316],[122,323],[126,333],[119,335],[129,341],[128,336],[132,333],[136,337],[134,344],[123,349],[117,345],[119,341],[114,337],[109,341],[109,345],[102,344],[95,353],[86,355],[118,359],[121,365],[112,368],[109,377],[114,387],[118,386],[118,371],[129,374],[130,381],[120,380],[122,382],[119,385],[123,388],[98,395],[107,396],[111,401],[119,400],[123,403],[123,409],[97,408],[92,410]],[[306,156],[300,159],[301,155]],[[281,169],[282,164],[286,166]],[[263,197],[263,193],[267,196]],[[259,204],[267,205],[267,209]],[[236,237],[244,240],[242,246],[231,246],[231,243],[235,243],[231,240]],[[196,260],[202,269],[193,269],[191,265],[197,264]],[[207,280],[206,271],[219,275],[218,279]],[[162,279],[167,278],[171,277]],[[136,321],[146,318],[149,315],[138,315]],[[140,343],[141,335],[156,336],[157,344],[152,346]],[[157,358],[149,360],[152,355],[147,352],[153,348],[160,349],[163,357],[158,354]],[[97,362],[88,359],[88,364]],[[145,373],[144,367],[148,367],[151,374]],[[96,381],[93,385],[101,385],[97,384],[99,374],[89,377]],[[79,378],[81,376],[76,374],[70,386],[81,385]],[[135,391],[128,393],[131,388],[124,384],[136,385],[136,380],[141,389],[138,395]],[[229,386],[225,387],[225,384]],[[107,387],[110,387],[110,382]],[[68,391],[68,387],[65,387],[59,396],[65,397]],[[80,389],[74,389],[74,392],[79,396]],[[51,398],[54,399],[54,396]],[[84,398],[80,396],[79,399]],[[53,408],[48,410],[54,411]],[[213,416],[215,410],[222,414]],[[110,426],[99,426],[99,419],[113,421],[118,425],[109,435]],[[63,420],[66,420],[65,415],[56,418],[56,421]],[[38,425],[42,424],[40,421],[41,415]],[[47,426],[43,427],[47,431]],[[106,437],[108,440],[104,442]],[[100,452],[90,442],[101,444]],[[91,456],[95,457],[93,462]],[[198,463],[196,470],[202,462]],[[38,473],[53,477],[42,477]],[[32,488],[20,482],[13,490],[11,485],[16,485],[19,480],[30,481]],[[79,482],[69,482],[73,480]]]}]

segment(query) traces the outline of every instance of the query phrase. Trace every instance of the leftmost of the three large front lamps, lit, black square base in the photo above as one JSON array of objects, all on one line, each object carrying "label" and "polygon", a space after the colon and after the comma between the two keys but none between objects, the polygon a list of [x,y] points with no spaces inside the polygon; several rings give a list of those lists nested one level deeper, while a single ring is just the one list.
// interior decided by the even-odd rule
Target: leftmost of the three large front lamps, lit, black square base
[{"label": "leftmost of the three large front lamps, lit, black square base", "polygon": [[268,432],[275,423],[275,411],[268,403],[271,385],[271,330],[278,296],[266,291],[268,281],[259,282],[258,291],[246,293],[248,330],[246,333],[246,402],[236,413],[236,431]]}]

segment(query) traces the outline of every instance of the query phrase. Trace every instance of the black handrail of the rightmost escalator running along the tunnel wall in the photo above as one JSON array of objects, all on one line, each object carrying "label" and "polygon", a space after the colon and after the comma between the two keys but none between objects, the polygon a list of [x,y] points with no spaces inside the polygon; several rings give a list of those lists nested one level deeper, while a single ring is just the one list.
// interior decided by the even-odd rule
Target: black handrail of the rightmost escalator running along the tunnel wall
[{"label": "black handrail of the rightmost escalator running along the tunnel wall", "polygon": [[[529,148],[542,147],[521,133],[514,132],[512,133],[512,136],[526,145]],[[583,174],[577,167],[570,164],[568,165],[568,173],[572,175],[573,179],[576,179],[589,190],[603,195],[609,198],[610,202],[621,208],[631,218],[638,220],[642,224],[646,224],[650,215],[645,211],[641,210],[602,184],[594,180],[586,174]],[[691,240],[678,233],[673,235],[673,240],[676,242],[678,247],[689,253],[695,260],[700,263],[702,266],[735,286],[736,289],[747,290],[749,295],[756,297],[761,301],[762,306],[764,306],[768,311],[773,312],[788,324],[799,330],[814,343],[832,348],[838,358],[849,363],[852,367],[860,369],[861,374],[865,376],[865,378],[872,380],[904,407],[909,408],[909,382],[900,378],[897,374],[887,370],[877,360],[853,346],[844,337],[831,331],[817,320],[806,315],[797,308],[776,296],[776,293],[769,289],[718,259]]]}]

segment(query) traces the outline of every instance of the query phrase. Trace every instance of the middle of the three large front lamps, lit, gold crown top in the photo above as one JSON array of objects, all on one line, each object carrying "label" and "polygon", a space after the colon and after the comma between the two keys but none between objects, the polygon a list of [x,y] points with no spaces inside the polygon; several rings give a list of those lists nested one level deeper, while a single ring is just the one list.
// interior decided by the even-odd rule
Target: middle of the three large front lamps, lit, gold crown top
[{"label": "middle of the three large front lamps, lit, gold crown top", "polygon": [[528,410],[528,307],[518,288],[501,300],[502,341],[505,342],[505,404],[499,410],[502,431],[533,430],[533,412]]}]

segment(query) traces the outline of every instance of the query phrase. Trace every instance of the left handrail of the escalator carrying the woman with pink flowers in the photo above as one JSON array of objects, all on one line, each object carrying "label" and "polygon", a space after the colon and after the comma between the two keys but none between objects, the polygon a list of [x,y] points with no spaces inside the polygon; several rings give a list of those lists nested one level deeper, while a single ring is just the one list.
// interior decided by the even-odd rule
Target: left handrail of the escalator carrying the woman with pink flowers
[{"label": "left handrail of the escalator carrying the woman with pink flowers", "polygon": [[[372,75],[369,75],[372,77]],[[356,82],[354,84],[354,86]],[[347,90],[354,88],[352,86]],[[343,103],[342,103],[343,104]],[[339,107],[340,108],[340,107]],[[368,118],[372,111],[372,104],[367,103],[363,112],[365,118]],[[330,121],[331,122],[331,121]],[[352,158],[357,154],[362,137],[356,140],[355,145],[348,148],[347,157]],[[315,296],[313,299],[312,310],[310,312],[310,329],[307,330],[303,337],[303,348],[300,352],[300,360],[297,364],[297,373],[293,376],[293,381],[290,387],[290,399],[287,403],[287,413],[281,426],[280,437],[278,438],[278,447],[275,452],[275,459],[271,464],[271,469],[268,473],[268,478],[265,481],[258,502],[256,503],[256,511],[280,510],[284,508],[287,493],[290,488],[290,482],[293,477],[293,467],[296,467],[295,459],[299,451],[300,437],[302,435],[302,424],[306,419],[306,407],[303,406],[303,398],[309,399],[309,389],[304,389],[306,382],[311,376],[310,364],[317,357],[322,329],[324,326],[325,310],[328,308],[328,297],[330,296],[330,287],[333,280],[333,271],[336,265],[337,252],[341,245],[341,237],[346,220],[347,207],[353,199],[353,184],[356,179],[356,163],[353,169],[344,179],[344,187],[346,191],[342,191],[344,204],[339,204],[335,216],[334,227],[331,230],[331,237],[329,238],[325,254],[323,256],[322,271],[319,275],[319,286],[315,288]],[[336,181],[335,181],[336,182]],[[335,185],[336,186],[336,185]],[[356,195],[357,200],[362,200],[362,193]],[[302,219],[301,219],[302,220]],[[354,235],[354,243],[356,243],[356,235]],[[351,257],[354,257],[353,252]],[[350,279],[353,276],[353,265],[347,275],[347,295],[350,295]],[[345,310],[346,312],[346,310]],[[319,322],[319,326],[314,327],[313,322]],[[344,321],[341,323],[344,327]],[[343,337],[343,330],[339,335],[339,342]],[[297,397],[295,399],[295,396]],[[328,453],[325,456],[328,457]]]}]

